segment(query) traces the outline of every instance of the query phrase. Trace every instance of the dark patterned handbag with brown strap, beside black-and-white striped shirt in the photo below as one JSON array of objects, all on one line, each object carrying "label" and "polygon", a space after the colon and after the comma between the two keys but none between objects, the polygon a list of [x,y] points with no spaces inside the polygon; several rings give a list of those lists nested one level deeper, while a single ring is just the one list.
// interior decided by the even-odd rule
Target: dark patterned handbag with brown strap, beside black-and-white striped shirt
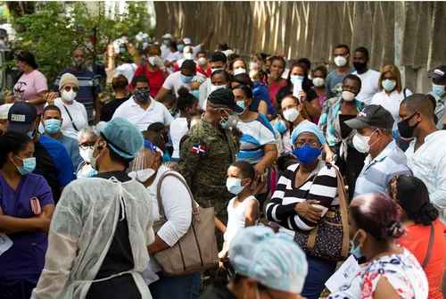
[{"label": "dark patterned handbag with brown strap, beside black-and-white striped shirt", "polygon": [[[335,166],[331,166],[335,167]],[[328,261],[343,261],[349,255],[349,223],[343,176],[336,170],[339,206],[330,207],[318,226],[294,235],[305,253]]]}]

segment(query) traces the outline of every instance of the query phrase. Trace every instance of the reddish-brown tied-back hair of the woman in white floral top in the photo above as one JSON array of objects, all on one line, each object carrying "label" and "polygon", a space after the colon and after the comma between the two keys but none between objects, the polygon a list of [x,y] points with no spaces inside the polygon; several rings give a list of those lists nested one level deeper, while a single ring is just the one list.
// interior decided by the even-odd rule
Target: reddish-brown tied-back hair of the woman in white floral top
[{"label": "reddish-brown tied-back hair of the woman in white floral top", "polygon": [[355,197],[350,205],[351,218],[376,242],[387,243],[404,234],[398,205],[388,195],[370,193]]}]

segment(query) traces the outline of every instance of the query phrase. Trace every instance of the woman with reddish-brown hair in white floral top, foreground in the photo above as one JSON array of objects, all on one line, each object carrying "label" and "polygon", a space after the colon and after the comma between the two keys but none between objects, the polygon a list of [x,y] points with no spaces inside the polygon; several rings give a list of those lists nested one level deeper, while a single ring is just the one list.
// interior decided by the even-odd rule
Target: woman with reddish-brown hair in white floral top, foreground
[{"label": "woman with reddish-brown hair in white floral top, foreground", "polygon": [[329,299],[427,298],[425,272],[412,253],[395,243],[404,233],[397,203],[384,194],[359,195],[351,202],[349,223],[351,254],[366,262]]}]

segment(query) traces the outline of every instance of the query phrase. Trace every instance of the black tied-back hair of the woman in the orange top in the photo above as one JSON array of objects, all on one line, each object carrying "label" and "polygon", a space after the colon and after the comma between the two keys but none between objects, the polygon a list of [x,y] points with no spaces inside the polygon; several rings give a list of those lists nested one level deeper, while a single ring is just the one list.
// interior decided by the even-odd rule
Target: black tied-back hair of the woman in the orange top
[{"label": "black tied-back hair of the woman in the orange top", "polygon": [[401,175],[395,178],[395,200],[406,212],[409,220],[431,225],[438,218],[438,210],[429,200],[429,192],[421,179]]}]

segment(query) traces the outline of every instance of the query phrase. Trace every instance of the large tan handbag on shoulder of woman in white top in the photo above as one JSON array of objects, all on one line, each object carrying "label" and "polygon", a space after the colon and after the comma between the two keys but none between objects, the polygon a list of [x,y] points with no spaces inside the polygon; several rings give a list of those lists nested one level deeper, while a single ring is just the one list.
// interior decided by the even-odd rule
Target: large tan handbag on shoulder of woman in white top
[{"label": "large tan handbag on shoulder of woman in white top", "polygon": [[219,252],[215,237],[214,208],[199,207],[187,186],[186,179],[176,171],[163,173],[158,181],[156,195],[160,208],[160,220],[153,224],[153,229],[155,232],[158,231],[167,221],[161,200],[161,181],[168,176],[177,178],[186,186],[192,198],[192,221],[186,235],[172,247],[155,253],[155,260],[161,265],[162,272],[167,276],[185,275],[217,267]]}]

